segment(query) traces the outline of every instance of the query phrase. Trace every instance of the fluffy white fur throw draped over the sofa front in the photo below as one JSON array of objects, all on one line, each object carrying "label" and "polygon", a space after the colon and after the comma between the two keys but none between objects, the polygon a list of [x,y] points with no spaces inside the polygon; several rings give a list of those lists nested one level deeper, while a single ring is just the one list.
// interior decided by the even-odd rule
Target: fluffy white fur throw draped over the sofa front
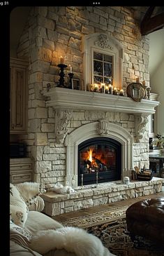
[{"label": "fluffy white fur throw draped over the sofa front", "polygon": [[98,237],[78,227],[38,231],[31,239],[29,248],[42,255],[50,250],[64,248],[77,256],[112,256]]}]

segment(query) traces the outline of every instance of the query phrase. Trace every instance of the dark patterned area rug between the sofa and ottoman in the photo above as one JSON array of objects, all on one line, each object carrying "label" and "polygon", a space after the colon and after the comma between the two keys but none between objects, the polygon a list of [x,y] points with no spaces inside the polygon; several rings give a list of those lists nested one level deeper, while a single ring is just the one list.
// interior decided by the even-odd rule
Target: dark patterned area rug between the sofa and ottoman
[{"label": "dark patterned area rug between the sofa and ottoman", "polygon": [[62,224],[86,229],[89,233],[98,236],[110,252],[117,256],[164,256],[164,247],[159,248],[140,236],[136,236],[134,241],[131,240],[126,227],[127,208],[128,206],[124,206],[92,215],[75,217],[62,222]]}]

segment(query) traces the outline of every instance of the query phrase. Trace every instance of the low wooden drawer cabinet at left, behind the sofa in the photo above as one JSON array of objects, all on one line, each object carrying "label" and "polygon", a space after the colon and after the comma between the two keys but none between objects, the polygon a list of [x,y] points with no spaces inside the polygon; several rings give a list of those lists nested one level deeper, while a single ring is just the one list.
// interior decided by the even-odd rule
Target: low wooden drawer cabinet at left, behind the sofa
[{"label": "low wooden drawer cabinet at left, behind the sofa", "polygon": [[10,182],[13,184],[33,180],[33,161],[30,158],[10,159]]}]

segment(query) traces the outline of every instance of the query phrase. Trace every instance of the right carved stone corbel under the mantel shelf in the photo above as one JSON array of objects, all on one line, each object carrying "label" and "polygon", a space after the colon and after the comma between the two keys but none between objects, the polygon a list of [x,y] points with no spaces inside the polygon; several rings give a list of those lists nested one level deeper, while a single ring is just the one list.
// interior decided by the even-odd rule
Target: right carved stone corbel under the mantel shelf
[{"label": "right carved stone corbel under the mantel shelf", "polygon": [[140,142],[146,131],[146,125],[149,121],[148,114],[135,114],[135,139],[136,142]]}]

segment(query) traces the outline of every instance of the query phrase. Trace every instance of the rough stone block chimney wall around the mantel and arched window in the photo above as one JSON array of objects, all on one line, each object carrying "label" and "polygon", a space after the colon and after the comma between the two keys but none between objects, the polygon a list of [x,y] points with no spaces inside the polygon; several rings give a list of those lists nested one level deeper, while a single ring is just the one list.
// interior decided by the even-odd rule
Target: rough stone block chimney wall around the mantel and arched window
[{"label": "rough stone block chimney wall around the mantel and arched window", "polygon": [[[142,11],[142,6],[141,6]],[[29,104],[27,142],[29,156],[35,162],[34,181],[46,187],[64,182],[66,149],[57,144],[54,135],[54,111],[45,107],[40,93],[47,83],[59,81],[59,59],[73,67],[75,77],[82,84],[82,36],[94,32],[107,32],[124,46],[123,88],[139,76],[149,84],[149,37],[141,36],[139,20],[143,13],[122,6],[36,6],[20,38],[17,58],[29,58]],[[104,115],[74,112],[68,132],[84,123],[96,121]],[[126,127],[133,135],[132,114],[107,113],[108,119]],[[148,128],[147,128],[148,130]],[[148,135],[148,131],[146,133]],[[134,163],[142,161],[148,166],[148,136],[134,144]]]}]

